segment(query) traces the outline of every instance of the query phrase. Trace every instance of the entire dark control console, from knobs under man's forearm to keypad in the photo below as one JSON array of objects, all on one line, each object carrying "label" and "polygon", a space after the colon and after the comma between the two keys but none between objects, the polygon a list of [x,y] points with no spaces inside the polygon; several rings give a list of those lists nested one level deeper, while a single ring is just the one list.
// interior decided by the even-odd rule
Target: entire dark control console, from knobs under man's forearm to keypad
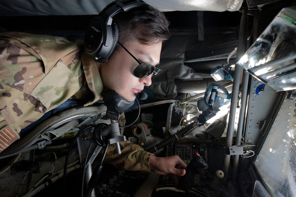
[{"label": "entire dark control console, from knobs under man's forearm to keypad", "polygon": [[[140,171],[106,170],[107,175],[102,176],[96,193],[101,196],[132,197],[132,196],[203,196],[203,197],[236,197],[240,196],[236,182],[222,182],[217,172],[223,166],[223,144],[221,143],[178,143],[169,147],[166,156],[178,155],[187,165],[198,154],[208,167],[201,173],[196,173],[185,192],[176,185],[169,175],[153,176]],[[179,179],[180,181],[181,179]],[[144,187],[143,187],[144,185]],[[153,186],[152,186],[153,185]],[[153,188],[151,188],[151,186]],[[149,191],[147,189],[150,189]],[[182,192],[180,192],[182,190]],[[171,194],[167,193],[171,192]]]}]

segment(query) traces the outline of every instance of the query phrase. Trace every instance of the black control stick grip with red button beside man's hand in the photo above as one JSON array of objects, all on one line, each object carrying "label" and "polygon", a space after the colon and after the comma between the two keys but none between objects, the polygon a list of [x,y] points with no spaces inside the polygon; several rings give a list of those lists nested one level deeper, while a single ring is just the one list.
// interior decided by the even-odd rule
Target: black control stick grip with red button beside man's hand
[{"label": "black control stick grip with red button beside man's hand", "polygon": [[199,155],[196,155],[191,159],[186,167],[186,173],[180,178],[179,187],[184,190],[191,189],[191,180],[197,173],[203,172],[208,168],[208,163],[202,159]]}]

